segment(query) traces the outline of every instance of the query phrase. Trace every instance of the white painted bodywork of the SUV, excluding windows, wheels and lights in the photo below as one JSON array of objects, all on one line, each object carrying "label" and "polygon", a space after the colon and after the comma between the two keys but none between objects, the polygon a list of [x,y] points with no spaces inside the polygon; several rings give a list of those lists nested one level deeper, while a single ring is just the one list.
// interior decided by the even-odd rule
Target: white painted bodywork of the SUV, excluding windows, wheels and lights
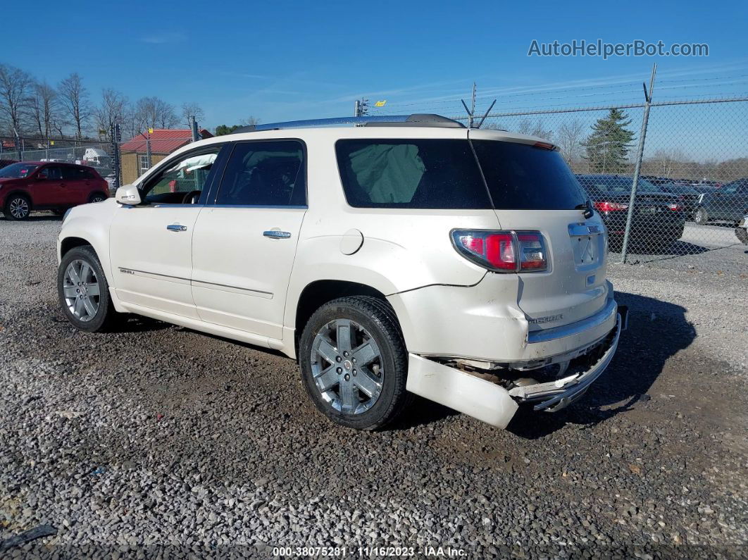
[{"label": "white painted bodywork of the SUV, excluding windows, wheels and lights", "polygon": [[[471,138],[533,143],[538,138],[470,131]],[[318,280],[361,283],[384,294],[396,311],[410,353],[408,390],[500,427],[516,410],[503,388],[420,355],[527,361],[559,356],[600,339],[616,316],[594,328],[528,344],[530,332],[573,326],[612,298],[605,280],[605,238],[598,259],[575,262],[569,224],[583,212],[356,209],[346,203],[334,144],[341,138],[468,138],[466,129],[350,127],[274,130],[211,138],[178,150],[138,179],[147,181],[181,154],[227,141],[298,138],[307,148],[307,209],[78,206],[58,244],[70,237],[93,245],[117,310],[140,313],[219,336],[277,348],[295,357],[298,300]],[[166,230],[184,224],[186,231]],[[289,239],[268,239],[266,230]],[[497,274],[453,248],[450,231],[540,230],[548,271]],[[363,241],[351,239],[361,232]],[[349,237],[346,238],[346,233]],[[358,244],[348,250],[349,245]],[[346,254],[346,253],[351,254]],[[578,254],[577,254],[578,253]],[[589,256],[587,251],[583,252]],[[120,273],[120,268],[140,271]],[[562,316],[548,324],[533,323]]]}]

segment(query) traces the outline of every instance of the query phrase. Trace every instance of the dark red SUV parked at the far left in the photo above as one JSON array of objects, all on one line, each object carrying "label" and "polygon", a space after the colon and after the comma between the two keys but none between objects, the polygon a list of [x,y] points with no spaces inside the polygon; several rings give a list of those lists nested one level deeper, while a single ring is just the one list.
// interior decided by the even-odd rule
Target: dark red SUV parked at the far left
[{"label": "dark red SUV parked at the far left", "polygon": [[25,220],[32,210],[61,215],[71,206],[108,196],[108,183],[93,167],[21,161],[0,169],[0,208],[11,220]]}]

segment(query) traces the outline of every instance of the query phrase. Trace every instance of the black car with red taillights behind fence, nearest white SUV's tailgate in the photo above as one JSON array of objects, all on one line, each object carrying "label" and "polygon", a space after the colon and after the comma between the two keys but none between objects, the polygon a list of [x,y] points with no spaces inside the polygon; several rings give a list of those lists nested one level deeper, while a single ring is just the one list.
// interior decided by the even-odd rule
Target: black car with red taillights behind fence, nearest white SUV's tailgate
[{"label": "black car with red taillights behind fence, nearest white SUV's tailgate", "polygon": [[[625,235],[631,177],[621,175],[577,175],[607,227],[610,247],[620,250]],[[685,206],[675,194],[660,190],[639,178],[630,240],[649,247],[666,247],[683,236]]]}]

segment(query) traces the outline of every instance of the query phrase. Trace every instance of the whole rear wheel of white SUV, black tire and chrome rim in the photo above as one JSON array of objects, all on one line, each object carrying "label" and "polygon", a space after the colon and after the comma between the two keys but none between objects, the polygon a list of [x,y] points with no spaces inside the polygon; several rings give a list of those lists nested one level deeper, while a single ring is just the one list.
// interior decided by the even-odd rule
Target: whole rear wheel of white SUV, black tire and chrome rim
[{"label": "whole rear wheel of white SUV, black tire and chrome rim", "polygon": [[[350,344],[339,339],[346,332],[355,338]],[[410,401],[405,341],[394,310],[381,299],[340,298],[316,310],[301,334],[299,363],[317,409],[347,428],[381,428]]]}]

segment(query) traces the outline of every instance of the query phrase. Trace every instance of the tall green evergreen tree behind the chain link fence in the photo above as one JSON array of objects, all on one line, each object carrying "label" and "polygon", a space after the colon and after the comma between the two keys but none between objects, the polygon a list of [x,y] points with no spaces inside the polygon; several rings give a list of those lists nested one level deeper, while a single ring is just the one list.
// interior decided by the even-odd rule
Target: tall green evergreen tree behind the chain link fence
[{"label": "tall green evergreen tree behind the chain link fence", "polygon": [[625,173],[626,156],[631,150],[634,132],[626,129],[631,119],[621,109],[610,109],[598,119],[586,141],[585,159],[595,173]]}]

